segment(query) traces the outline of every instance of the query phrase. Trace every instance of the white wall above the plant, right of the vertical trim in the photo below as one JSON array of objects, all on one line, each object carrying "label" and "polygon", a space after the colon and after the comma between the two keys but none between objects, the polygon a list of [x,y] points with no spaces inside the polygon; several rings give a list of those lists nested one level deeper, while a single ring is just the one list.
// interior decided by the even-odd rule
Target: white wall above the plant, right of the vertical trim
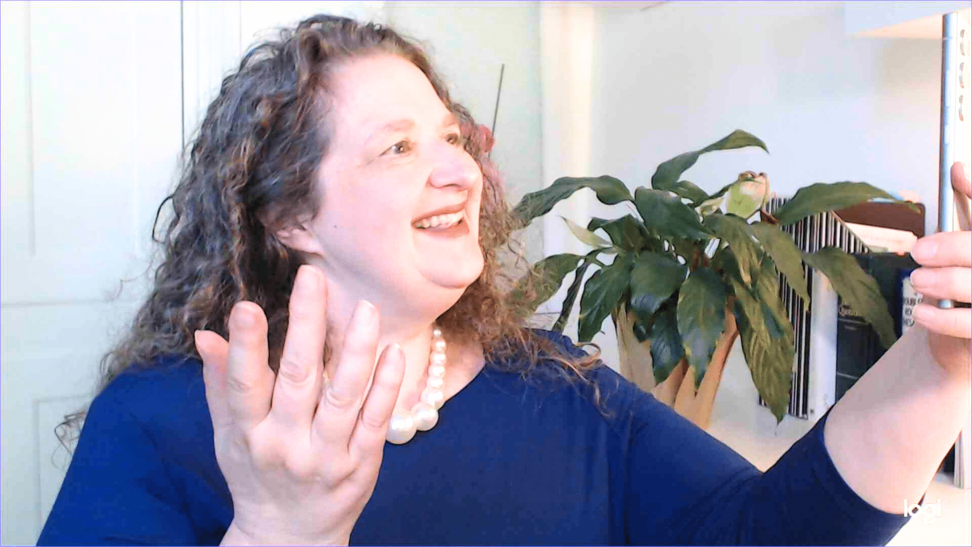
[{"label": "white wall above the plant, right of the vertical trim", "polygon": [[838,2],[704,4],[600,12],[595,174],[648,185],[657,164],[742,128],[771,154],[709,154],[686,178],[714,191],[751,169],[780,194],[914,190],[934,227],[940,44],[847,36]]}]

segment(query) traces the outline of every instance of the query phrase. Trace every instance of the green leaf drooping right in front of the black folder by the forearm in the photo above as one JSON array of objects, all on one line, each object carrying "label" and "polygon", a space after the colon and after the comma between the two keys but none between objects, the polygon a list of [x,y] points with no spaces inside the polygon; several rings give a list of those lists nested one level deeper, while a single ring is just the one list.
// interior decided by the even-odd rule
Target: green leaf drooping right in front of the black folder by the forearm
[{"label": "green leaf drooping right in front of the black folder by the forearm", "polygon": [[871,323],[882,346],[890,347],[897,339],[894,321],[887,312],[887,302],[878,281],[864,272],[857,261],[837,247],[824,247],[816,253],[804,253],[803,259],[830,279],[834,290],[851,308]]}]

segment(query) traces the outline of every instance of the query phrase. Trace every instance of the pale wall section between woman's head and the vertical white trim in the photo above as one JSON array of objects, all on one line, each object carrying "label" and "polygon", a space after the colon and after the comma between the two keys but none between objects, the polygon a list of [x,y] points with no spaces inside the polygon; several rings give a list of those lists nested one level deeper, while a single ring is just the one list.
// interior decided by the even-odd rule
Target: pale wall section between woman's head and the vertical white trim
[{"label": "pale wall section between woman's head and the vertical white trim", "polygon": [[[537,2],[389,2],[389,24],[424,44],[453,98],[492,126],[500,67],[503,91],[492,159],[515,203],[541,179],[539,9]],[[542,258],[540,223],[521,239]]]}]

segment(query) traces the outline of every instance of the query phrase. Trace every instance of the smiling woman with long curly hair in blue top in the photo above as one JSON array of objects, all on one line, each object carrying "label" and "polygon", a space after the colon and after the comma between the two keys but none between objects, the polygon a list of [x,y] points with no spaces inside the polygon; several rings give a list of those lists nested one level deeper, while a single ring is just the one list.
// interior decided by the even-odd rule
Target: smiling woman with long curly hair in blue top
[{"label": "smiling woman with long curly hair in blue top", "polygon": [[[247,55],[39,543],[877,544],[907,522],[968,408],[968,310],[917,309],[762,473],[523,326],[475,128],[385,27],[309,18]],[[920,290],[968,302],[968,252],[921,239]]]}]

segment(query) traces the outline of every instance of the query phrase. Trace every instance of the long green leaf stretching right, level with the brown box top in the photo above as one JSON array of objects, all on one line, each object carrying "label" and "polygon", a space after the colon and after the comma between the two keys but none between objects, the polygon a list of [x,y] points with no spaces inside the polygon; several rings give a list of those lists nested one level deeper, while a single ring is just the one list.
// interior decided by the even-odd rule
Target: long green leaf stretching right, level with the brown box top
[{"label": "long green leaf stretching right, level with the brown box top", "polygon": [[882,198],[897,203],[904,203],[918,211],[915,203],[895,200],[890,194],[866,182],[835,182],[833,184],[817,183],[797,190],[790,201],[773,213],[773,216],[786,226],[799,222],[804,218],[822,213],[836,211],[857,203]]}]

